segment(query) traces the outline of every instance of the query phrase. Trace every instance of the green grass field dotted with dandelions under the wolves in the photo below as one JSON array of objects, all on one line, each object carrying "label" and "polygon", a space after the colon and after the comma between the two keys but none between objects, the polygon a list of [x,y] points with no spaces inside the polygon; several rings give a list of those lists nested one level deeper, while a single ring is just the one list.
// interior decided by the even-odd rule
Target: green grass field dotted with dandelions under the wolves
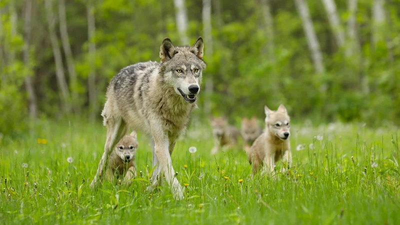
[{"label": "green grass field dotted with dandelions under the wolves", "polygon": [[[400,223],[395,127],[293,125],[289,174],[278,172],[279,162],[273,176],[251,179],[241,147],[210,156],[210,129],[192,123],[172,154],[178,180],[186,184],[180,201],[165,182],[145,191],[151,147],[140,133],[136,166],[142,175],[131,186],[104,182],[95,191],[89,184],[103,151],[100,122],[42,121],[32,133],[0,137],[1,224]],[[296,150],[299,144],[305,148]]]}]

